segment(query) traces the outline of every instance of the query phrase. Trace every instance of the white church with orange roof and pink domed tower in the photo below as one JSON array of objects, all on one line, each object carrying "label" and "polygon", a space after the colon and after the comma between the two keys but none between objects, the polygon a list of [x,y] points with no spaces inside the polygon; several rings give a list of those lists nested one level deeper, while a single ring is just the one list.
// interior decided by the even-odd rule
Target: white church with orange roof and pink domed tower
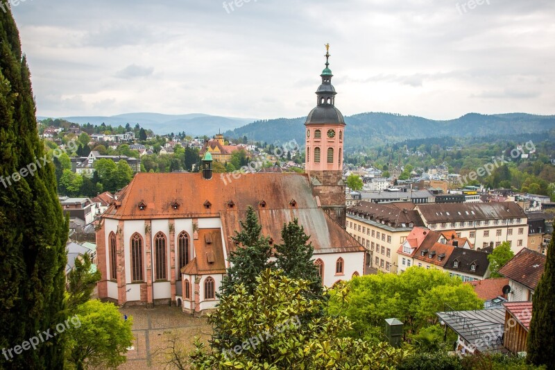
[{"label": "white church with orange roof and pink domed tower", "polygon": [[99,298],[119,305],[169,303],[200,314],[241,248],[232,236],[252,206],[262,233],[280,244],[297,218],[314,246],[323,285],[364,274],[365,249],[345,231],[342,180],[345,121],[335,108],[326,53],[316,108],[306,126],[306,173],[213,176],[212,155],[200,173],[139,173],[96,221]]}]

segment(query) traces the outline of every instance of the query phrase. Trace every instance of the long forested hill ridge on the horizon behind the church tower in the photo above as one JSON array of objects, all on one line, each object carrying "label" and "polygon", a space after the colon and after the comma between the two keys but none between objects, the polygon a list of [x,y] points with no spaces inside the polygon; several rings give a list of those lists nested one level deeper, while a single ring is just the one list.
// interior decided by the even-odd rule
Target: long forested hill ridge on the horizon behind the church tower
[{"label": "long forested hill ridge on the horizon behind the church tower", "polygon": [[[225,133],[228,137],[274,143],[297,140],[304,143],[305,117],[255,121]],[[479,115],[469,113],[449,121],[416,116],[368,112],[345,117],[345,149],[362,149],[385,142],[402,142],[425,137],[461,137],[541,133],[555,129],[555,116],[509,113]]]}]

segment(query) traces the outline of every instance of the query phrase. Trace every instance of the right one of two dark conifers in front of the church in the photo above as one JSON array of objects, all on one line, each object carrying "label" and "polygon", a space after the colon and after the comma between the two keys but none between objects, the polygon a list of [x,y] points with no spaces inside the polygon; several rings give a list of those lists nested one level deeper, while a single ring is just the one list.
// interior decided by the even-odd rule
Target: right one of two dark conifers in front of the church
[{"label": "right one of two dark conifers in front of the church", "polygon": [[[275,246],[275,267],[282,269],[289,278],[308,280],[314,296],[321,296],[322,278],[312,259],[314,247],[308,242],[310,237],[305,234],[305,228],[299,225],[298,219],[283,225],[282,239],[283,243]],[[316,298],[314,296],[310,298]]]}]

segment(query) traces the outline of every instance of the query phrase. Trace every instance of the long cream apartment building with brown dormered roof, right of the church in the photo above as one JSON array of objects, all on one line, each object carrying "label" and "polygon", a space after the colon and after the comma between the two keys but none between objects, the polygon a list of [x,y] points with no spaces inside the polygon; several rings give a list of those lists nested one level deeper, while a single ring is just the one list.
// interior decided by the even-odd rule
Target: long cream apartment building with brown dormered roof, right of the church
[{"label": "long cream apartment building with brown dormered roof, right of the church", "polygon": [[509,242],[514,253],[528,243],[528,218],[514,202],[418,204],[422,224],[434,231],[454,230],[477,249]]}]

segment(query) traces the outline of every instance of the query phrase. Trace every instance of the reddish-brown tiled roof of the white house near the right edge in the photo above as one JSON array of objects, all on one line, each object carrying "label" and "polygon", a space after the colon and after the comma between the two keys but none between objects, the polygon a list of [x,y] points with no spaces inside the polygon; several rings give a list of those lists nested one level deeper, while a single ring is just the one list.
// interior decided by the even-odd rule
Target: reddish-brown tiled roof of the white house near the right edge
[{"label": "reddish-brown tiled roof of the white house near the right edge", "polygon": [[499,274],[535,290],[545,267],[545,255],[524,248],[499,269]]}]

